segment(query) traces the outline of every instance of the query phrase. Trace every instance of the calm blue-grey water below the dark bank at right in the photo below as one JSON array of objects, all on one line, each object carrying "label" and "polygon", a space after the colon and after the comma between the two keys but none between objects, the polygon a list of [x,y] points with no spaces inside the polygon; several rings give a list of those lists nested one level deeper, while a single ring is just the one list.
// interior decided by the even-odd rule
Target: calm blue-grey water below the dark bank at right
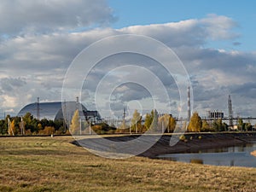
[{"label": "calm blue-grey water below the dark bank at right", "polygon": [[256,157],[250,154],[256,150],[256,141],[229,148],[201,150],[191,154],[161,154],[160,159],[207,164],[214,166],[256,167]]}]

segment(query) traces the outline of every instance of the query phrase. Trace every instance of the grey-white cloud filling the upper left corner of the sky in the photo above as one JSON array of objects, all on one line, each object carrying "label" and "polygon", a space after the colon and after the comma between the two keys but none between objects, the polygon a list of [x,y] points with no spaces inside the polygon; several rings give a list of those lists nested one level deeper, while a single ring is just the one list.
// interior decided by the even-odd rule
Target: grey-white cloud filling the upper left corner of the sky
[{"label": "grey-white cloud filling the upper left corner of the sky", "polygon": [[0,34],[7,36],[67,32],[115,20],[105,0],[3,0],[0,18]]}]

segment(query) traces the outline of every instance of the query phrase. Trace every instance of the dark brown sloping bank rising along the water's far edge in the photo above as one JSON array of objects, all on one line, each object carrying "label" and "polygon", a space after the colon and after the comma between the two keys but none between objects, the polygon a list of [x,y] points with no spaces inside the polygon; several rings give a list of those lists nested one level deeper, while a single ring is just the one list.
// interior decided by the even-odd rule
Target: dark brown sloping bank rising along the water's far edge
[{"label": "dark brown sloping bank rising along the water's far edge", "polygon": [[143,154],[140,154],[140,156],[157,158],[160,154],[198,153],[204,149],[232,147],[256,140],[256,133],[193,133],[185,136],[187,141],[180,140],[174,146],[169,144],[171,136],[163,136],[159,142],[155,143],[152,148],[149,148]]}]

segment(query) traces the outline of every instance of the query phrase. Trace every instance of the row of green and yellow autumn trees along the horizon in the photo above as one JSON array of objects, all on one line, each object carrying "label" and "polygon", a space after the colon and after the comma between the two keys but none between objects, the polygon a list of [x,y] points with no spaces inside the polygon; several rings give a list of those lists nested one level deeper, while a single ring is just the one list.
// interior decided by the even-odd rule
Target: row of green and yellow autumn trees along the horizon
[{"label": "row of green and yellow autumn trees along the horizon", "polygon": [[[145,119],[136,109],[129,125],[124,120],[119,127],[108,125],[104,121],[100,123],[90,123],[89,120],[81,122],[78,110],[73,113],[69,129],[64,124],[63,119],[38,120],[31,113],[26,113],[23,117],[10,117],[7,115],[5,119],[0,119],[0,135],[10,136],[89,134],[89,127],[91,131],[95,131],[97,134],[144,133],[146,131],[172,133],[176,128],[187,132],[229,131],[229,126],[222,119],[207,121],[206,119],[201,119],[199,113],[195,112],[189,122],[183,121],[183,125],[177,125],[177,120],[171,114],[159,114],[156,109],[147,113]],[[240,131],[253,131],[253,126],[250,123],[244,123],[242,119],[238,119],[237,129]]]}]

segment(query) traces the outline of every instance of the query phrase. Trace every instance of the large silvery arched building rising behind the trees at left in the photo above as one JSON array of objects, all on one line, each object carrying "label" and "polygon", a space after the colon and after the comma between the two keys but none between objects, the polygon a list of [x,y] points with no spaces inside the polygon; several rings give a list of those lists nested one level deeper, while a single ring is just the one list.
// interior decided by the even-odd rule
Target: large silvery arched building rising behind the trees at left
[{"label": "large silvery arched building rising behind the trees at left", "polygon": [[17,116],[21,117],[26,113],[31,113],[37,119],[51,120],[64,119],[65,116],[69,123],[76,109],[79,109],[81,119],[91,119],[93,122],[102,119],[97,111],[87,110],[80,102],[34,102],[22,108]]}]

